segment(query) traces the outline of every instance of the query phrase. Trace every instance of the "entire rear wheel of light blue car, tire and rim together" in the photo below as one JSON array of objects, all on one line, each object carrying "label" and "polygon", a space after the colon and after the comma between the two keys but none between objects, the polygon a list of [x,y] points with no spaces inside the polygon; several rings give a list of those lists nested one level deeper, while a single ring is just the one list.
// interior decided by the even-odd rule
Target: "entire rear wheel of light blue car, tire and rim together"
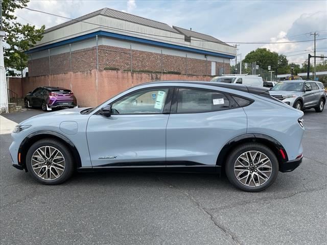
[{"label": "entire rear wheel of light blue car, tire and rim together", "polygon": [[230,153],[225,171],[234,186],[245,191],[261,191],[277,178],[278,160],[266,146],[246,143]]}]

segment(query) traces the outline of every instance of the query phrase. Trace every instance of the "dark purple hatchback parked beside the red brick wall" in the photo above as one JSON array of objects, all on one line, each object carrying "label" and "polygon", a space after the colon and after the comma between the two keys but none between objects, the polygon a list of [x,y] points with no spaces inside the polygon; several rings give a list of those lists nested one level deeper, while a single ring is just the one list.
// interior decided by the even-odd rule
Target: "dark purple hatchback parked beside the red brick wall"
[{"label": "dark purple hatchback parked beside the red brick wall", "polygon": [[52,108],[74,108],[77,106],[74,93],[60,87],[38,87],[24,98],[25,107],[41,107],[43,111]]}]

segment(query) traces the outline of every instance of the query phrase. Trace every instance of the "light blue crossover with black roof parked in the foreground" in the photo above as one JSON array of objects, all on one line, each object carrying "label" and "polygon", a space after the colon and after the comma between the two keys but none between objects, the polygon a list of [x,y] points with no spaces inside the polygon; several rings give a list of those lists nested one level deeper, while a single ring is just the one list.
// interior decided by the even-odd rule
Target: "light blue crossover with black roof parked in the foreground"
[{"label": "light blue crossover with black roof parked in the foreground", "polygon": [[220,173],[245,191],[302,162],[303,112],[267,88],[211,82],[135,86],[95,108],[40,114],[15,127],[13,166],[43,184],[78,171]]}]

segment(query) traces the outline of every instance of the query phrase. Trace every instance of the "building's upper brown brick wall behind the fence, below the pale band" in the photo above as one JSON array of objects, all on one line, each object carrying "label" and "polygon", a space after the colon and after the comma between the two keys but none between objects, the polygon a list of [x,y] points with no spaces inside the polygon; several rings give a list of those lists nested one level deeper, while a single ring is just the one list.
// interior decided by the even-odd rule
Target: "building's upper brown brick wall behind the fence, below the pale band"
[{"label": "building's upper brown brick wall behind the fence, below the pale band", "polygon": [[[177,71],[182,75],[203,76],[211,74],[211,62],[180,56],[157,54],[145,51],[132,50],[132,57],[129,48],[121,48],[107,45],[99,45],[98,59],[99,69],[114,67],[120,70]],[[132,58],[132,59],[131,59]],[[72,61],[69,53],[51,55],[50,67],[49,57],[29,61],[29,76],[40,76],[49,74],[61,74],[69,71],[87,71],[96,68],[96,48],[86,48],[72,52]],[[72,67],[71,67],[72,63]],[[187,65],[186,65],[187,64]],[[216,74],[219,68],[224,67],[225,74],[229,73],[229,64],[216,62]]]}]

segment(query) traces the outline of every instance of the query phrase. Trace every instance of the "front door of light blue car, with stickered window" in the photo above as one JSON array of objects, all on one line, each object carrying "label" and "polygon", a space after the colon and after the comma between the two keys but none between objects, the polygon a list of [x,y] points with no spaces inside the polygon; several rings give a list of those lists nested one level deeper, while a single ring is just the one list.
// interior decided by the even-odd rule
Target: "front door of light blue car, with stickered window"
[{"label": "front door of light blue car, with stickered window", "polygon": [[154,87],[110,104],[111,115],[90,116],[87,142],[92,166],[166,166],[166,126],[172,89]]}]

